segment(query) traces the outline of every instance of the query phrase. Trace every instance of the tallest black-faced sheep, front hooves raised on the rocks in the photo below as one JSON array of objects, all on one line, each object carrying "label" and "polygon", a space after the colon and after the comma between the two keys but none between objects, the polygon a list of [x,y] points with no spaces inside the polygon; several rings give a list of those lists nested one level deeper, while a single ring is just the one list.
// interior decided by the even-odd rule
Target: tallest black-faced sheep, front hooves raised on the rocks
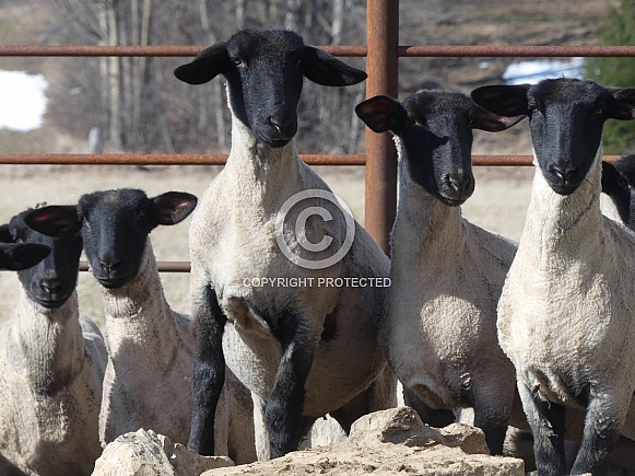
[{"label": "tallest black-faced sheep, front hooves raised on the rocks", "polygon": [[[239,31],[175,70],[189,84],[217,74],[227,80],[232,149],[190,222],[198,340],[188,445],[212,454],[209,415],[226,361],[251,391],[258,456],[274,458],[295,450],[327,413],[348,432],[363,414],[396,405],[396,380],[376,337],[385,290],[374,283],[385,282],[389,259],[331,201],[294,140],[303,77],[343,86],[366,73],[293,32]],[[301,197],[304,207],[281,211]],[[259,286],[267,282],[260,278],[273,285]],[[364,281],[325,285],[336,278]]]}]

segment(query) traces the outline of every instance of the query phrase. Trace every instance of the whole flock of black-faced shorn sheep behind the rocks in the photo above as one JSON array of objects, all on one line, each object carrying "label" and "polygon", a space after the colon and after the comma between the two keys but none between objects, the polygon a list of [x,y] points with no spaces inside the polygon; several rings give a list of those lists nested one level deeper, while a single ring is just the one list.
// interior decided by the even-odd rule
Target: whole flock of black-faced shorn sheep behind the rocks
[{"label": "whole flock of black-faced shorn sheep behind the rocks", "polygon": [[[635,448],[635,155],[601,148],[607,120],[635,118],[635,89],[560,78],[351,104],[398,152],[388,256],[295,142],[303,83],[336,93],[364,71],[293,32],[243,30],[174,73],[169,88],[226,83],[231,152],[200,197],[86,190],[0,225],[0,269],[20,281],[0,323],[0,476],[90,475],[140,428],[272,460],[401,398],[430,426],[469,420],[539,475],[635,474],[621,456]],[[472,131],[526,118],[516,243],[461,206]],[[150,235],[186,220],[183,314]],[[79,305],[82,253],[102,327]]]}]

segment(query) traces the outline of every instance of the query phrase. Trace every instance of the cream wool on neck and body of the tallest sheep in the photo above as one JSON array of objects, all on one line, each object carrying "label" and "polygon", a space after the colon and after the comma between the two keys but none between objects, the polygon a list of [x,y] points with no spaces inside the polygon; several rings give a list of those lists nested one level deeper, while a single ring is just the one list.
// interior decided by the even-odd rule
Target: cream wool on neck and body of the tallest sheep
[{"label": "cream wool on neck and body of the tallest sheep", "polygon": [[[287,198],[306,189],[330,191],[299,160],[295,140],[280,149],[260,147],[233,115],[227,164],[204,191],[190,223],[192,310],[202,304],[211,283],[228,318],[223,335],[227,367],[262,404],[255,405],[256,414],[263,411],[282,357],[281,346],[260,313],[275,318],[283,310],[296,313],[303,333],[310,336],[316,349],[305,385],[305,415],[321,417],[336,410],[374,381],[378,392],[371,410],[395,406],[395,379],[385,371],[386,361],[376,336],[384,289],[245,286],[245,279],[254,277],[388,277],[388,257],[357,223],[349,253],[326,269],[304,269],[281,253],[275,241],[279,211]],[[321,199],[314,199],[314,205],[332,206]],[[319,220],[319,229],[309,225],[309,241],[319,242],[326,233],[333,237],[333,246],[339,246],[344,240],[344,220],[337,210],[331,214],[330,221]],[[297,214],[292,210],[290,217],[294,223]],[[296,242],[290,246],[303,254]],[[324,257],[327,256],[331,256],[329,249],[325,252]],[[336,338],[320,340],[329,314],[337,322]],[[259,458],[268,458],[262,415],[255,415],[255,420]]]}]

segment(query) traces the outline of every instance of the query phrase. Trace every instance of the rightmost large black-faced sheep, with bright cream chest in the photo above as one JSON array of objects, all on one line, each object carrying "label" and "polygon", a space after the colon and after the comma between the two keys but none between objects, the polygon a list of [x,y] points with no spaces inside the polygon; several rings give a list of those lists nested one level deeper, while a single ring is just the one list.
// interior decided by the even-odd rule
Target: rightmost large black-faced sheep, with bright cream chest
[{"label": "rightmost large black-faced sheep, with bright cream chest", "polygon": [[602,127],[633,119],[635,89],[556,79],[483,86],[472,98],[494,114],[530,119],[536,174],[497,329],[516,368],[537,466],[565,473],[565,408],[583,407],[571,473],[596,474],[621,432],[635,437],[635,235],[599,205]]}]

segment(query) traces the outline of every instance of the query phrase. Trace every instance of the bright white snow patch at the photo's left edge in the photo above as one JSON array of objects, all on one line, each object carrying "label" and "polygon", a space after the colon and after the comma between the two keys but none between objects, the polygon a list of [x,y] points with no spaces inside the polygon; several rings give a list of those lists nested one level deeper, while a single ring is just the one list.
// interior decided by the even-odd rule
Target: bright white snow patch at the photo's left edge
[{"label": "bright white snow patch at the photo's left edge", "polygon": [[48,82],[42,74],[0,70],[0,129],[37,129],[46,112]]}]

